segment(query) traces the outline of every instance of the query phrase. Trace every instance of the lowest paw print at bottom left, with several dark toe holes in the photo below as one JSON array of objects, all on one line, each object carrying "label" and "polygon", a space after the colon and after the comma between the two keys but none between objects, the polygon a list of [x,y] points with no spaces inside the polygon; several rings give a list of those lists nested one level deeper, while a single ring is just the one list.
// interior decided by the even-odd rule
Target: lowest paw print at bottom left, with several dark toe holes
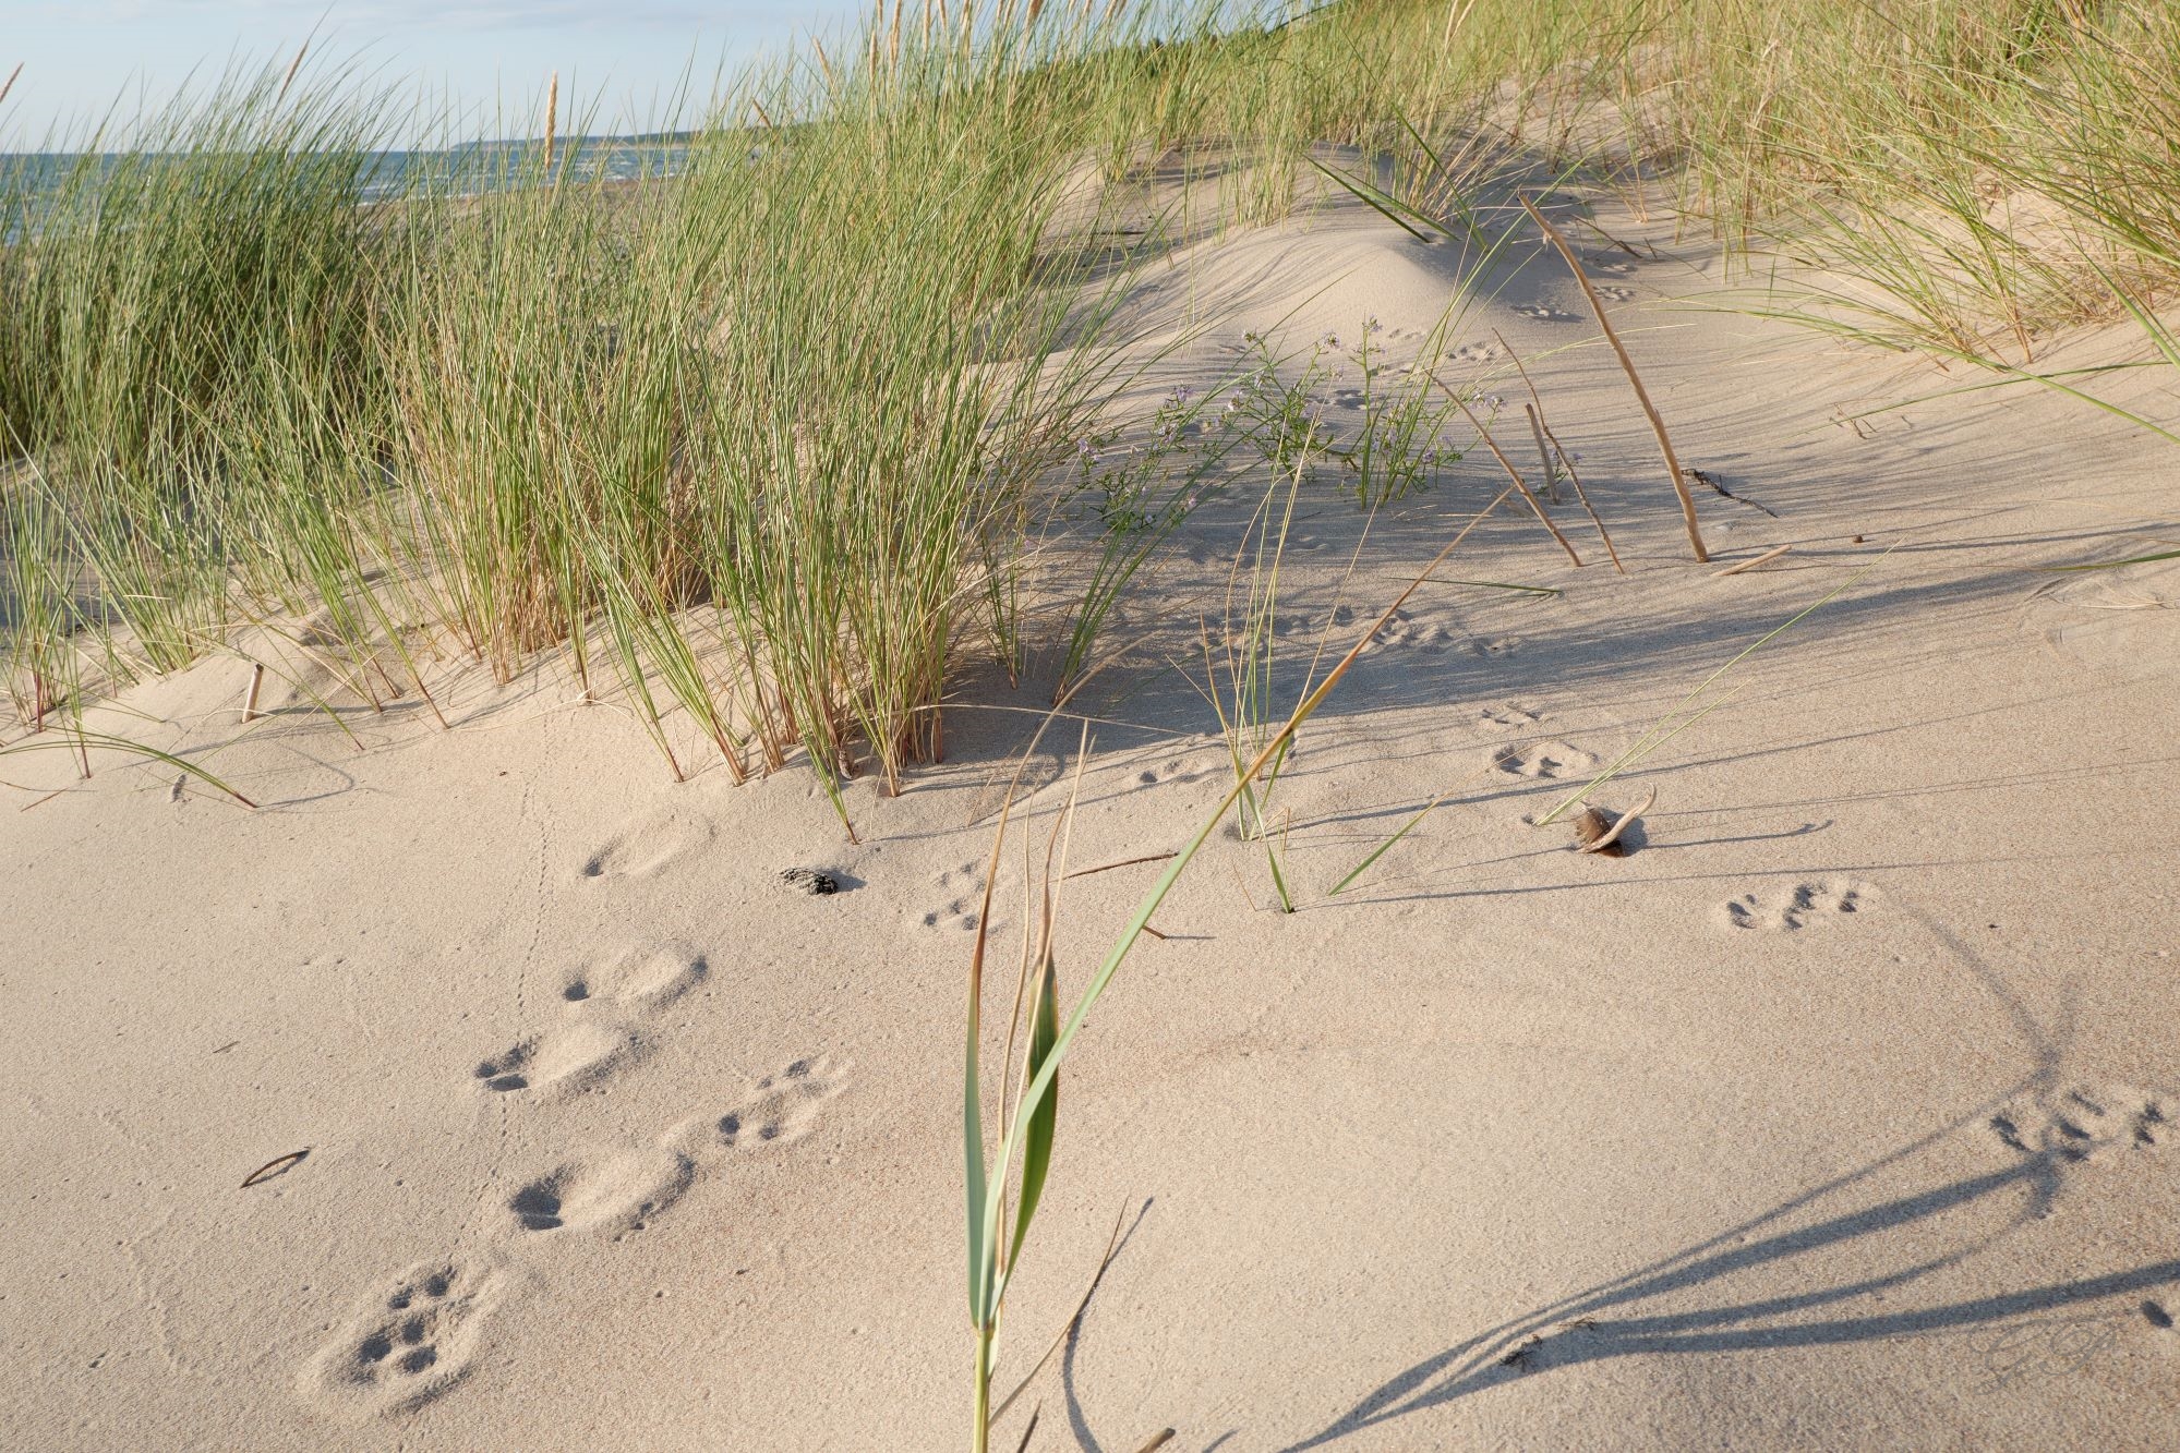
[{"label": "lowest paw print at bottom left, with several dark toe holes", "polygon": [[499,1274],[477,1261],[414,1266],[377,1290],[303,1370],[310,1401],[336,1414],[423,1407],[469,1375]]}]

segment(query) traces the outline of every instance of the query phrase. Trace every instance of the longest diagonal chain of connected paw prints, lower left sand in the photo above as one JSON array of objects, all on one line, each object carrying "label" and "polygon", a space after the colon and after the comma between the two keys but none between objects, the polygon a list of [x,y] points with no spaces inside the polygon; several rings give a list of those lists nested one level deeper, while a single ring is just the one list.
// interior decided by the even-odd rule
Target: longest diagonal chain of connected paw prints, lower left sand
[{"label": "longest diagonal chain of connected paw prints, lower left sand", "polygon": [[423,1407],[471,1372],[493,1311],[525,1274],[549,1266],[552,1248],[580,1235],[628,1242],[671,1211],[706,1168],[804,1139],[839,1091],[841,1072],[828,1059],[798,1059],[752,1080],[719,1115],[645,1146],[569,1155],[512,1196],[499,1192],[497,1216],[486,1216],[480,1233],[482,1255],[425,1261],[373,1287],[303,1366],[303,1396],[344,1420]]}]

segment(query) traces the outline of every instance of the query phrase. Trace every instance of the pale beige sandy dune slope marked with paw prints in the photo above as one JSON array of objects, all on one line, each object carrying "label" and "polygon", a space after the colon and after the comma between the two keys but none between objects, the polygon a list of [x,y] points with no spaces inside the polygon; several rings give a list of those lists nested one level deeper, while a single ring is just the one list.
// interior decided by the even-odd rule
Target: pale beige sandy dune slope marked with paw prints
[{"label": "pale beige sandy dune slope marked with paw prints", "polygon": [[[2032,566],[2169,534],[2173,460],[2030,394],[1855,429],[1931,381],[1661,305],[1713,264],[1648,231],[1666,257],[1591,240],[1600,281],[1690,462],[1777,512],[1705,497],[1720,564],[1794,551],[1694,566],[1609,355],[1554,351],[1591,333],[1563,272],[1498,279],[1463,368],[1493,331],[1530,359],[1631,573],[1493,516],[1443,575],[1563,595],[1410,601],[1282,784],[1304,911],[1216,839],[1158,915],[1009,1309],[1025,1368],[1125,1211],[1033,1446],[2171,1446],[2180,571]],[[1369,213],[1177,261],[1131,301],[1184,344],[1144,407],[1251,329],[1413,346],[1454,279]],[[1389,512],[1360,619],[1495,490],[1476,455]],[[1171,662],[1240,516],[1116,627],[1077,865],[1216,799]],[[1301,516],[1295,662],[1358,532]],[[1862,569],[1604,793],[1657,789],[1635,854],[1524,823]],[[804,773],[676,786],[558,677],[456,691],[451,734],[355,717],[366,752],[307,710],[240,734],[238,691],[211,662],[131,693],[174,725],[116,721],[231,743],[262,813],[120,758],[0,813],[0,1442],[959,1446],[961,969],[1029,721],[972,706],[1044,695],[964,682],[953,760],[857,784],[846,845]],[[1059,778],[1049,741],[1040,834]],[[1151,874],[1068,884],[1075,982]]]}]

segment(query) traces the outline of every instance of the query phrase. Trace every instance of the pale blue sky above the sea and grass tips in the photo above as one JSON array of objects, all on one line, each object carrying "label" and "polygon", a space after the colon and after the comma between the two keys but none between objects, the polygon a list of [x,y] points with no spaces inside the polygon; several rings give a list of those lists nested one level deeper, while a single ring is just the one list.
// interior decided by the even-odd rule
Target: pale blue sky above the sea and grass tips
[{"label": "pale blue sky above the sea and grass tips", "polygon": [[451,94],[475,109],[475,133],[534,131],[554,70],[562,115],[595,107],[602,129],[630,129],[658,115],[691,63],[708,83],[722,59],[778,52],[859,13],[846,0],[0,0],[0,81],[22,63],[0,102],[0,150],[116,98],[131,113],[140,96],[170,98],[192,68],[286,63],[312,30],[314,57]]}]

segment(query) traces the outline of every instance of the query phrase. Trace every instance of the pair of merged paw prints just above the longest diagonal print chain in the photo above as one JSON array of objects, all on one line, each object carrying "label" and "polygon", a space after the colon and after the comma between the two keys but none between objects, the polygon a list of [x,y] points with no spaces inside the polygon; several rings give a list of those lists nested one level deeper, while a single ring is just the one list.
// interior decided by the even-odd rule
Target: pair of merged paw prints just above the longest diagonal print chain
[{"label": "pair of merged paw prints just above the longest diagonal print chain", "polygon": [[650,1019],[706,974],[680,948],[628,950],[569,974],[560,1022],[480,1059],[471,1078],[486,1094],[558,1096],[589,1089],[650,1050]]}]

